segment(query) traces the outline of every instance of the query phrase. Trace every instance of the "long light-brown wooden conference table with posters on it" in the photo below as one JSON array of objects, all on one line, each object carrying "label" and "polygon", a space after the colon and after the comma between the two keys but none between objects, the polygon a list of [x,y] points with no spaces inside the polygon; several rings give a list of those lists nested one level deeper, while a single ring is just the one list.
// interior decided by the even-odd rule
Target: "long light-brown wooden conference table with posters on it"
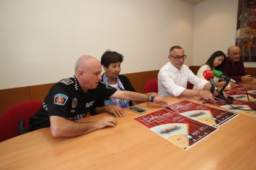
[{"label": "long light-brown wooden conference table with posters on it", "polygon": [[[197,102],[166,99],[168,104]],[[150,103],[148,108],[147,103],[142,103],[139,107],[150,113],[164,106]],[[104,116],[109,114],[81,121],[96,121]],[[140,115],[126,110],[124,118],[116,118],[116,127],[79,137],[54,138],[45,128],[6,140],[0,143],[0,169],[256,169],[255,118],[236,116],[183,150],[134,121],[137,116]]]}]

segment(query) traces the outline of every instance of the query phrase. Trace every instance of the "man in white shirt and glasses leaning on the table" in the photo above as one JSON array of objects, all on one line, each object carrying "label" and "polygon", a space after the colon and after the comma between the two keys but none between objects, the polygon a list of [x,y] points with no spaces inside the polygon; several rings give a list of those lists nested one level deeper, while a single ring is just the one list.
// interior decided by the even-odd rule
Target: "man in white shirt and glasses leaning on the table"
[{"label": "man in white shirt and glasses leaning on the table", "polygon": [[[175,97],[198,96],[203,99],[214,100],[211,94],[211,84],[206,79],[198,78],[184,65],[187,55],[180,46],[173,46],[169,51],[170,62],[166,63],[158,73],[158,94],[163,97],[174,95]],[[197,86],[197,89],[186,89],[187,82]]]}]

